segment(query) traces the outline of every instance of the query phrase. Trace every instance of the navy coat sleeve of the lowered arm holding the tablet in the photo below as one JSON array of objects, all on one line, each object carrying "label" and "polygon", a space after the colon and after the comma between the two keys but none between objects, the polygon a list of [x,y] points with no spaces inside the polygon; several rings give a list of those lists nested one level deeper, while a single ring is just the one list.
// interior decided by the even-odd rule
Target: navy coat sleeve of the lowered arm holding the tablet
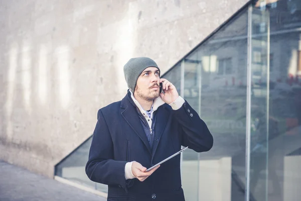
[{"label": "navy coat sleeve of the lowered arm holding the tablet", "polygon": [[93,132],[86,174],[92,181],[107,185],[119,185],[127,191],[124,167],[126,161],[113,160],[113,142],[101,110]]}]

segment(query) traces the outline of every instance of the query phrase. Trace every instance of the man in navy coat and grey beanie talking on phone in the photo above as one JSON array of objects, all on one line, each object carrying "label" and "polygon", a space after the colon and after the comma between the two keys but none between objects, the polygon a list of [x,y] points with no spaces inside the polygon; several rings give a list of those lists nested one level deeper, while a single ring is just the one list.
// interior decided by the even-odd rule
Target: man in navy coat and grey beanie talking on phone
[{"label": "man in navy coat and grey beanie talking on phone", "polygon": [[160,79],[154,60],[132,58],[123,71],[129,89],[121,101],[98,111],[86,174],[108,185],[107,200],[185,200],[180,155],[145,170],[181,145],[209,151],[213,137],[176,87]]}]

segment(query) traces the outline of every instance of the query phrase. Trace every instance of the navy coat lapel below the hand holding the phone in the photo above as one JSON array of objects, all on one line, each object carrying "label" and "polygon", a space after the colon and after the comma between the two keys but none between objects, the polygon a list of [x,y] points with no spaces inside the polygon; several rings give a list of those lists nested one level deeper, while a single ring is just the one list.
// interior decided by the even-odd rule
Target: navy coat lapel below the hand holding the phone
[{"label": "navy coat lapel below the hand holding the phone", "polygon": [[161,136],[164,133],[165,127],[167,125],[167,122],[170,119],[170,113],[168,112],[168,110],[165,109],[165,106],[162,106],[160,108],[158,108],[158,110],[156,111],[156,125],[155,125],[155,140],[154,141],[154,145],[153,145],[153,154],[152,154],[152,160],[155,156],[155,153],[157,151],[157,147],[159,145],[159,142],[161,140]]}]

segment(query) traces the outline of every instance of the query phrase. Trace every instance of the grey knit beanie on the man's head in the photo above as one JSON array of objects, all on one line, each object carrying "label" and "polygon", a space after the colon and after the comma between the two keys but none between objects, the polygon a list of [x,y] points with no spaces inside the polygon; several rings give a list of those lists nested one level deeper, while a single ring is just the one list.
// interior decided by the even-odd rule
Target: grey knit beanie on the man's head
[{"label": "grey knit beanie on the man's head", "polygon": [[128,88],[131,89],[132,92],[135,90],[136,82],[140,74],[148,67],[156,67],[159,69],[157,63],[150,58],[147,57],[137,57],[131,58],[123,67],[125,81],[127,83]]}]

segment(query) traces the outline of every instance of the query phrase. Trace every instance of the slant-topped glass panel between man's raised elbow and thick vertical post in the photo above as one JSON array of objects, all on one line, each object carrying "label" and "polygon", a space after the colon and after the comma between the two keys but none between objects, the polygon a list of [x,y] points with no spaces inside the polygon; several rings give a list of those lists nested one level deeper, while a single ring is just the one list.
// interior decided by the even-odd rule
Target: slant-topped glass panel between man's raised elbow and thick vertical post
[{"label": "slant-topped glass panel between man's raised elbow and thick vertical post", "polygon": [[182,61],[182,95],[214,137],[209,152],[183,153],[190,201],[244,200],[247,16],[243,10]]}]

